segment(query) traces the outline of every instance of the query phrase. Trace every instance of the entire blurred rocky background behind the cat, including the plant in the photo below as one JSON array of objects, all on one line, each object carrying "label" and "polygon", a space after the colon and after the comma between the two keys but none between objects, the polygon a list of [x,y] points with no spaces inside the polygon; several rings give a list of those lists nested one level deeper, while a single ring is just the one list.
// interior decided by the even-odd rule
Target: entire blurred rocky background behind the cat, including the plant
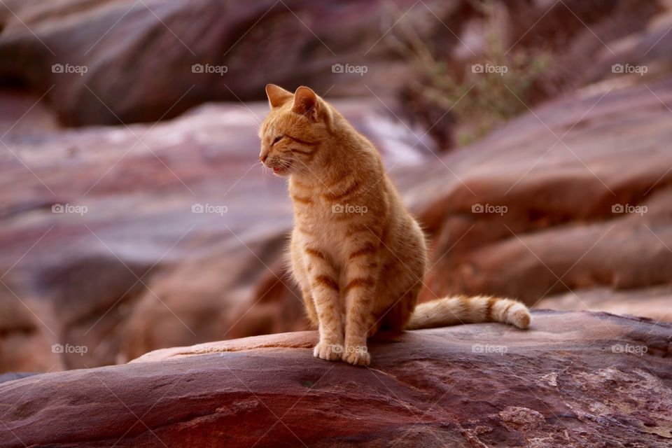
[{"label": "entire blurred rocky background behind the cat, including the plant", "polygon": [[672,321],[671,27],[667,0],[3,0],[0,372],[307,329],[269,82],[380,148],[423,300]]}]

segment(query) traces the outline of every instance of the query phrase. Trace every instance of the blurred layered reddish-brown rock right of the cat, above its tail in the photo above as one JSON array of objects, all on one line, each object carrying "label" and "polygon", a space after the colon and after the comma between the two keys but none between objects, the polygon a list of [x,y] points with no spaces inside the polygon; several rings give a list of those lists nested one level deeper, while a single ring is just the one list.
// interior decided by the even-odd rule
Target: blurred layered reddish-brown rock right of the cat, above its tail
[{"label": "blurred layered reddish-brown rock right of the cat, above its tail", "polygon": [[672,278],[666,104],[670,78],[601,85],[549,102],[432,167],[405,169],[400,183],[434,243],[423,296],[485,293],[532,305],[568,291],[581,302],[582,290],[605,288],[620,301],[600,309],[666,316],[664,302],[624,295],[645,297]]}]

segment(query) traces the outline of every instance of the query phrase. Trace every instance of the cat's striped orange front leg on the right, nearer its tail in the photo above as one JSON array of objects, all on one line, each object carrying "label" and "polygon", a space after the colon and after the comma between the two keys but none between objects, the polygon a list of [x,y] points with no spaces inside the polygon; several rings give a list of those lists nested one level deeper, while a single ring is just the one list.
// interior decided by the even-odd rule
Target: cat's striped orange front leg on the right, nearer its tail
[{"label": "cat's striped orange front leg on the right, nearer its tail", "polygon": [[371,361],[366,338],[375,325],[372,304],[379,273],[377,252],[374,244],[351,247],[345,269],[346,322],[342,360],[354,365],[369,365]]}]

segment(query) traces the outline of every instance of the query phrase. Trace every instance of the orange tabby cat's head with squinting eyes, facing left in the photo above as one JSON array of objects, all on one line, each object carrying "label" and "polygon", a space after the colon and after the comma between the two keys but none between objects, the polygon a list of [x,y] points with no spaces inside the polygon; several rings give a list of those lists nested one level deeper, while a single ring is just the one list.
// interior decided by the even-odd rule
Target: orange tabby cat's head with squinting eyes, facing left
[{"label": "orange tabby cat's head with squinting eyes, facing left", "polygon": [[320,144],[328,138],[329,106],[309,87],[292,93],[266,86],[271,111],[259,129],[259,160],[278,176],[316,174],[323,165]]}]

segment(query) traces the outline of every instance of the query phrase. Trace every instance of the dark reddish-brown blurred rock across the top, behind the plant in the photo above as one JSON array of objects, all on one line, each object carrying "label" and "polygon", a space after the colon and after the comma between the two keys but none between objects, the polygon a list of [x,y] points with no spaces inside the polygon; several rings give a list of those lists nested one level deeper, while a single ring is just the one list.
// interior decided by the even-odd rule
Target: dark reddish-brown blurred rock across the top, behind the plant
[{"label": "dark reddish-brown blurred rock across the top, behind the plant", "polygon": [[[308,84],[337,97],[370,95],[374,86],[379,96],[395,97],[417,78],[414,61],[394,45],[407,40],[402,27],[447,55],[458,78],[482,54],[486,34],[470,38],[484,18],[468,0],[3,3],[0,80],[45,94],[59,120],[73,126],[173,118],[210,101],[262,100],[269,82]],[[507,2],[498,31],[507,47],[553,52],[557,64],[538,89],[547,97],[602,78],[612,58],[633,52],[608,51],[607,43],[630,38],[639,49],[658,38],[663,8],[636,0]],[[649,22],[658,27],[648,30]],[[661,37],[643,62],[664,64],[671,40]],[[358,71],[339,72],[334,64]]]}]

